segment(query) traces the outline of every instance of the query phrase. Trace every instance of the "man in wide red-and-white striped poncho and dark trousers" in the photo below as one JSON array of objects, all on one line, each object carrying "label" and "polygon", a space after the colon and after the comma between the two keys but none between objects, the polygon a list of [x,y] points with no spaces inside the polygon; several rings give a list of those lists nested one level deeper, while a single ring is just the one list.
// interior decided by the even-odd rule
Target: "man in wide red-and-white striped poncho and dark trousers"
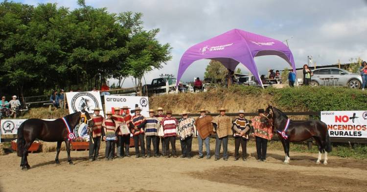
[{"label": "man in wide red-and-white striped poncho and dark trousers", "polygon": [[172,117],[172,111],[167,110],[167,116],[161,120],[161,126],[163,127],[164,133],[164,145],[166,158],[169,158],[169,143],[172,147],[172,156],[178,157],[176,154],[176,128],[178,126],[178,121],[176,118]]}]

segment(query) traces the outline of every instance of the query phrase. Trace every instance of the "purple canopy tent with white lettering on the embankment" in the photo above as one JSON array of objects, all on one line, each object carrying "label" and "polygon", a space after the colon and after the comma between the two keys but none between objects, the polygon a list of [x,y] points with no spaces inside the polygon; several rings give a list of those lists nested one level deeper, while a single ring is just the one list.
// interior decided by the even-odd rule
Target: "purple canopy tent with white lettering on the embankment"
[{"label": "purple canopy tent with white lettering on the embankment", "polygon": [[296,72],[292,52],[284,43],[273,38],[232,29],[222,35],[198,43],[185,51],[180,60],[176,87],[188,66],[200,59],[220,61],[231,71],[235,70],[238,63],[242,63],[263,86],[253,58],[266,55],[275,55],[285,59]]}]

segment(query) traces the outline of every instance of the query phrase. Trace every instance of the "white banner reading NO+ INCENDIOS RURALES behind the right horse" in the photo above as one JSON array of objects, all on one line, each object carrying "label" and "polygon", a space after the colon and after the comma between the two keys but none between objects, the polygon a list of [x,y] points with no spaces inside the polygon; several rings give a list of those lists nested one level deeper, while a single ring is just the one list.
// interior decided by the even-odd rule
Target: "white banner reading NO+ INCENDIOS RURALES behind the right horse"
[{"label": "white banner reading NO+ INCENDIOS RURALES behind the right horse", "polygon": [[367,111],[323,111],[321,121],[331,137],[367,138]]}]

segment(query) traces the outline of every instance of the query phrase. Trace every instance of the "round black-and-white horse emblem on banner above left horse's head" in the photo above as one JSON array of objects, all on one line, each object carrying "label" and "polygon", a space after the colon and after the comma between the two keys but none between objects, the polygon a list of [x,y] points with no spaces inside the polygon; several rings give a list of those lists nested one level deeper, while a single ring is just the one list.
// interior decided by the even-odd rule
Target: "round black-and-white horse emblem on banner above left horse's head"
[{"label": "round black-and-white horse emblem on banner above left horse's head", "polygon": [[88,113],[92,114],[95,107],[99,107],[98,100],[90,93],[80,92],[71,99],[71,109],[74,113],[85,108]]}]

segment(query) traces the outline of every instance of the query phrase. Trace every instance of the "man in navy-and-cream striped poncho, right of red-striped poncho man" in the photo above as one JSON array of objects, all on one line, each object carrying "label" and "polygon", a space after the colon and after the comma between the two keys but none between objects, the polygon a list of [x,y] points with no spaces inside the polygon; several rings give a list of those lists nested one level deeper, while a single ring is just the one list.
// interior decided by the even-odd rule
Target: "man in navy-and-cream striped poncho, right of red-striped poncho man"
[{"label": "man in navy-and-cream striped poncho, right of red-striped poncho man", "polygon": [[146,150],[147,156],[152,157],[152,151],[150,149],[151,143],[153,143],[154,157],[158,157],[157,150],[157,137],[160,123],[158,118],[154,116],[154,110],[149,110],[149,117],[145,118],[145,136],[146,136]]}]

